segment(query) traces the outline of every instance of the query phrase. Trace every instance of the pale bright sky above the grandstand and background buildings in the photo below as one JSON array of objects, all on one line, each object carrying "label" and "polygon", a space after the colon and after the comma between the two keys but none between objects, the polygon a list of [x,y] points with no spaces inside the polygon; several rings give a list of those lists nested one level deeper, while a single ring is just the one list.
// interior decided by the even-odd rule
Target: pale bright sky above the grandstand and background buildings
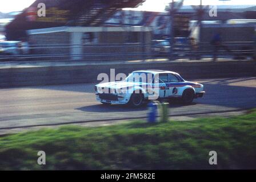
[{"label": "pale bright sky above the grandstand and background buildings", "polygon": [[[31,5],[35,0],[0,0],[0,11],[8,13],[10,11],[21,11],[27,6]],[[146,11],[163,11],[165,6],[171,2],[171,0],[147,0],[142,6],[139,6],[137,10]],[[197,5],[200,0],[185,0],[185,5]],[[205,5],[256,5],[255,0],[203,0]],[[47,5],[46,5],[47,7]]]}]

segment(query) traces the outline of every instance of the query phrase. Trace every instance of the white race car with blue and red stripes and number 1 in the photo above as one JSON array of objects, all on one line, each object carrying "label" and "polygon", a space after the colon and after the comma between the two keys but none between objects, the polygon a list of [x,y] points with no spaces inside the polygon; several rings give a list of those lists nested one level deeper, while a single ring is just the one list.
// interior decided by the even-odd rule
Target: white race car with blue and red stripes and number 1
[{"label": "white race car with blue and red stripes and number 1", "polygon": [[178,73],[162,70],[134,71],[123,81],[95,85],[97,101],[102,104],[129,104],[139,107],[149,100],[179,98],[191,104],[203,97],[203,85],[184,80]]}]

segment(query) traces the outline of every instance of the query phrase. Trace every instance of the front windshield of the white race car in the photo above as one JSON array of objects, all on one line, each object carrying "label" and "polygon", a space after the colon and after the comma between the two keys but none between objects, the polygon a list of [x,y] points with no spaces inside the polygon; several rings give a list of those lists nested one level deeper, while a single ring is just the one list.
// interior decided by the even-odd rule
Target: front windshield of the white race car
[{"label": "front windshield of the white race car", "polygon": [[152,82],[153,80],[152,73],[145,73],[145,72],[133,72],[131,73],[125,80],[127,82]]}]

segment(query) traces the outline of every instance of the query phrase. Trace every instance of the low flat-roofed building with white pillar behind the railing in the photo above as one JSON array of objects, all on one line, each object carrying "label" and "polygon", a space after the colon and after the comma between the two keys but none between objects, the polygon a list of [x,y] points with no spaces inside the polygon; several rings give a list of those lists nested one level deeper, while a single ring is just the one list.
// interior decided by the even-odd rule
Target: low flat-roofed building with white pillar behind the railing
[{"label": "low flat-roofed building with white pillar behind the railing", "polygon": [[31,47],[47,45],[34,49],[35,54],[66,54],[73,60],[136,60],[141,59],[138,53],[151,51],[143,46],[151,42],[149,27],[53,27],[29,30],[28,35]]}]

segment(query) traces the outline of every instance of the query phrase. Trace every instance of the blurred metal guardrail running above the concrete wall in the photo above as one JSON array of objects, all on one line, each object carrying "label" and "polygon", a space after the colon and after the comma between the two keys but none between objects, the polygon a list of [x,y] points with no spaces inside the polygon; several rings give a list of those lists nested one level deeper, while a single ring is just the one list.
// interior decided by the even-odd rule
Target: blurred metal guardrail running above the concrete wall
[{"label": "blurred metal guardrail running above the concrete wall", "polygon": [[[78,56],[86,61],[107,60],[146,60],[146,59],[202,59],[217,57],[232,57],[233,59],[247,59],[255,56],[255,42],[223,42],[220,46],[213,46],[209,42],[195,44],[156,46],[143,43],[125,44],[37,44],[29,47],[29,54],[22,54],[25,48],[2,48],[0,61],[63,61],[72,60]],[[82,53],[71,53],[72,49],[79,48]],[[9,51],[5,51],[9,49]],[[0,48],[1,50],[1,48]],[[4,53],[10,55],[5,55]]]}]

